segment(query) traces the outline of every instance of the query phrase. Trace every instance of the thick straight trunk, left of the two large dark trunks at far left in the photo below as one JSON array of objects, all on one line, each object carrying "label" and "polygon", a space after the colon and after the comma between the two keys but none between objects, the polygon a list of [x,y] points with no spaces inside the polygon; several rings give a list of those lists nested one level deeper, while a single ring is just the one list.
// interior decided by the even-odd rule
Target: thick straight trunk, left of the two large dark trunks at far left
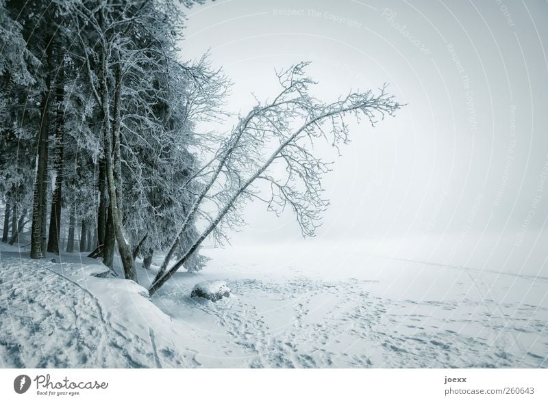
[{"label": "thick straight trunk, left of the two large dark trunks at far left", "polygon": [[[47,43],[51,40],[47,40]],[[47,46],[47,63],[51,66],[51,45]],[[32,229],[30,234],[30,258],[35,260],[46,256],[46,206],[47,206],[47,143],[49,137],[49,97],[51,94],[51,73],[46,74],[46,90],[42,92],[40,105],[40,130],[38,131],[37,169],[32,204]]]}]

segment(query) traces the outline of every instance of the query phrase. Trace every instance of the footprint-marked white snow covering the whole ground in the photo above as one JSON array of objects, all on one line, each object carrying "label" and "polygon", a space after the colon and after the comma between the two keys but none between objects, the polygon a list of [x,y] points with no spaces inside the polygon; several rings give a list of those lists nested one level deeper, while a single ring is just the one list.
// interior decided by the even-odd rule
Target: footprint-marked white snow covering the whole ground
[{"label": "footprint-marked white snow covering the whole ground", "polygon": [[[209,249],[145,289],[78,254],[0,246],[5,367],[548,367],[548,278],[418,263],[359,247]],[[48,258],[48,261],[50,258]],[[159,265],[140,268],[148,284]],[[224,280],[232,295],[190,298]]]}]

